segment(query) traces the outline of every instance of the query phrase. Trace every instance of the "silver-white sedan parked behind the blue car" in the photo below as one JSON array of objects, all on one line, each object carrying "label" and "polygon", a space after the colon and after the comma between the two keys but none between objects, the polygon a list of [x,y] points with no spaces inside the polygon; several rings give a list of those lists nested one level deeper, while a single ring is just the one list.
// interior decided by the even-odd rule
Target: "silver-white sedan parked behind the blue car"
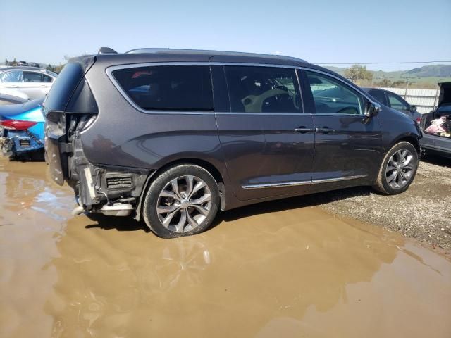
[{"label": "silver-white sedan parked behind the blue car", "polygon": [[58,74],[36,67],[0,68],[1,89],[12,89],[27,95],[30,99],[45,96]]}]

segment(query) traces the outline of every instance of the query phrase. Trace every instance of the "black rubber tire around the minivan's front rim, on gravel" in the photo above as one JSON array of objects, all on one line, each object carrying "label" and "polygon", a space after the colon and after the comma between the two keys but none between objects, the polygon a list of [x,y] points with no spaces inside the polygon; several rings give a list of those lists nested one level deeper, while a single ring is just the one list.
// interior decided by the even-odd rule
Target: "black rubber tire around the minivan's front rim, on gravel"
[{"label": "black rubber tire around the minivan's front rim, on gravel", "polygon": [[[412,173],[409,176],[409,180],[402,187],[392,187],[388,182],[388,177],[385,173],[385,170],[388,168],[388,162],[390,158],[397,153],[398,151],[407,150],[412,154]],[[416,175],[416,170],[418,169],[419,157],[415,147],[409,142],[399,142],[395,144],[385,155],[385,158],[382,161],[381,168],[379,169],[378,178],[376,184],[373,185],[373,189],[376,189],[378,192],[381,192],[385,195],[396,195],[405,192],[410,184],[414,181],[414,177]]]}]

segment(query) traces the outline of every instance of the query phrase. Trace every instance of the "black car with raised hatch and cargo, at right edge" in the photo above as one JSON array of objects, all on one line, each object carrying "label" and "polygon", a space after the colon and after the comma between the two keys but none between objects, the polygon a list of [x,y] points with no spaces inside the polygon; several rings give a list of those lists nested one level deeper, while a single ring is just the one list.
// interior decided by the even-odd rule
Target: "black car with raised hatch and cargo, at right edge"
[{"label": "black car with raised hatch and cargo, at right edge", "polygon": [[451,82],[441,82],[438,106],[421,116],[421,149],[425,154],[451,158]]}]

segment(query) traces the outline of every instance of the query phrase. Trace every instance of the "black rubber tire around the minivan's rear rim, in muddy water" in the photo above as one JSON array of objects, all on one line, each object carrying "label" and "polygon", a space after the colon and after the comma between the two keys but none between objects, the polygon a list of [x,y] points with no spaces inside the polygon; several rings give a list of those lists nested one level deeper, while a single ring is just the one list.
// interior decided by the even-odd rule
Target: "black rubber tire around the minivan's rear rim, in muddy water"
[{"label": "black rubber tire around the minivan's rear rim, in muddy water", "polygon": [[[163,189],[172,180],[178,177],[183,177],[186,175],[191,175],[206,183],[211,195],[211,205],[209,206],[209,213],[205,216],[202,223],[194,227],[194,229],[185,232],[175,232],[169,230],[163,225],[159,219],[159,215],[156,211],[156,206],[159,203],[159,196]],[[219,197],[218,185],[216,180],[211,174],[202,167],[192,164],[180,164],[168,168],[163,173],[158,175],[153,182],[150,184],[147,194],[144,199],[144,205],[142,209],[142,217],[144,222],[149,227],[154,234],[161,238],[175,238],[182,236],[190,236],[192,234],[198,234],[204,232],[213,222],[218,213],[219,205],[221,204],[221,199]]]}]

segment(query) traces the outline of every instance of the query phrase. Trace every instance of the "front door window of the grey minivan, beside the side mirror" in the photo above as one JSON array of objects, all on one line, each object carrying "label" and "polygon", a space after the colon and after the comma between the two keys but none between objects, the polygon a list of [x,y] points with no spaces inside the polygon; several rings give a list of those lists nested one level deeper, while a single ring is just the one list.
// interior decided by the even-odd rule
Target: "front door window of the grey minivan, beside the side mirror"
[{"label": "front door window of the grey minivan, beside the side mirror", "polygon": [[327,75],[306,72],[319,114],[362,114],[363,99],[350,86]]}]

